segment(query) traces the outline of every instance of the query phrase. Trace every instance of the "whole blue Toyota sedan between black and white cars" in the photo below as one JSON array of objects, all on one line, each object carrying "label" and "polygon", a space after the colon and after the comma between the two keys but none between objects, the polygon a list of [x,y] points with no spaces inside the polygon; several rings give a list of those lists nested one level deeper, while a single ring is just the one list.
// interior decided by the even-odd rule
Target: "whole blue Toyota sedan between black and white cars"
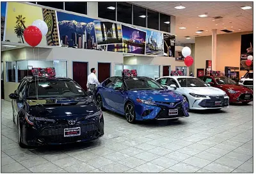
[{"label": "whole blue Toyota sedan between black and white cars", "polygon": [[125,115],[127,122],[189,116],[186,98],[149,77],[109,77],[96,93],[99,107]]}]

